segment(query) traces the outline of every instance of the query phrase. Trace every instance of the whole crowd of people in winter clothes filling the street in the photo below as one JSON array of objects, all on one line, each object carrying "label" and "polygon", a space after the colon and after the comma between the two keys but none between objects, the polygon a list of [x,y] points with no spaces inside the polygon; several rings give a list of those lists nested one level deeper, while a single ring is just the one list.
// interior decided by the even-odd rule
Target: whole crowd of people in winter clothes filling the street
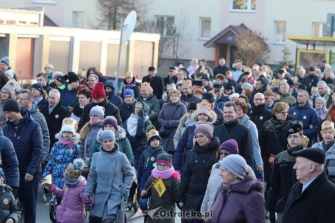
[{"label": "whole crowd of people in winter clothes filling the street", "polygon": [[182,222],[332,222],[331,66],[218,64],[192,59],[165,78],[151,66],[141,83],[127,72],[119,96],[95,67],[46,64],[21,89],[2,58],[1,222],[35,222],[50,176],[58,222],[84,222],[86,209],[89,222],[120,222],[137,205],[161,207],[145,222],[174,222],[161,213],[176,205],[195,213]]}]

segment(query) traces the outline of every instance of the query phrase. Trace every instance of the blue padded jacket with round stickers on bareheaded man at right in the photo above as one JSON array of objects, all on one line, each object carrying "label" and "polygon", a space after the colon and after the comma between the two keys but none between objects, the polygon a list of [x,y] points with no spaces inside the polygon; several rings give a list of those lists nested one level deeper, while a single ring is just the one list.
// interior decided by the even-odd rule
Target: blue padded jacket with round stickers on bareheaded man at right
[{"label": "blue padded jacket with round stickers on bareheaded man at right", "polygon": [[[298,120],[303,122],[304,135],[310,139],[308,144],[312,146],[314,135],[320,130],[320,120],[316,110],[311,107],[308,101],[304,106],[299,106],[296,102],[289,109],[288,114],[293,117],[292,121]],[[313,128],[310,129],[310,125],[313,125]]]}]

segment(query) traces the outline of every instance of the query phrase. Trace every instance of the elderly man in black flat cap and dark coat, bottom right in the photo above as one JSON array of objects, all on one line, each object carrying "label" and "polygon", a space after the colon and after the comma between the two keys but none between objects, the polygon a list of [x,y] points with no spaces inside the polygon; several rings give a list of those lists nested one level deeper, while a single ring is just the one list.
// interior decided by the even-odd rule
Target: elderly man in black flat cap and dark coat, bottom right
[{"label": "elderly man in black flat cap and dark coat, bottom right", "polygon": [[282,222],[334,222],[335,185],[323,171],[325,153],[306,148],[292,153],[296,182],[288,196]]}]

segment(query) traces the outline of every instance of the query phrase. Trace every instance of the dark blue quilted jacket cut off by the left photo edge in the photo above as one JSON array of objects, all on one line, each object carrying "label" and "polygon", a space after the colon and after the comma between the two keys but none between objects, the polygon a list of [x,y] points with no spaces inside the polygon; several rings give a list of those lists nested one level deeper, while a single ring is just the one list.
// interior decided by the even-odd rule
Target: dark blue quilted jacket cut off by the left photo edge
[{"label": "dark blue quilted jacket cut off by the left photo edge", "polygon": [[6,184],[19,187],[19,161],[17,161],[13,143],[4,136],[0,127],[0,159],[2,168],[5,170]]}]

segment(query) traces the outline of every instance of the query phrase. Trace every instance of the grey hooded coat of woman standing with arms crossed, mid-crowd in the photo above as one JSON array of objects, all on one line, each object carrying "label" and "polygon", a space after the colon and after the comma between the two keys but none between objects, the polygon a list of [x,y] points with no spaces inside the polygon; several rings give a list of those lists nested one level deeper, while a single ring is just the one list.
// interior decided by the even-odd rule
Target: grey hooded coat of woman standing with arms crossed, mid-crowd
[{"label": "grey hooded coat of woman standing with arms crossed, mid-crowd", "polygon": [[160,144],[165,151],[175,151],[173,137],[175,136],[180,118],[186,113],[186,104],[180,100],[176,103],[172,103],[171,100],[169,100],[168,103],[163,104],[158,116],[158,122],[165,129],[170,129],[169,136],[161,137],[162,140]]}]

